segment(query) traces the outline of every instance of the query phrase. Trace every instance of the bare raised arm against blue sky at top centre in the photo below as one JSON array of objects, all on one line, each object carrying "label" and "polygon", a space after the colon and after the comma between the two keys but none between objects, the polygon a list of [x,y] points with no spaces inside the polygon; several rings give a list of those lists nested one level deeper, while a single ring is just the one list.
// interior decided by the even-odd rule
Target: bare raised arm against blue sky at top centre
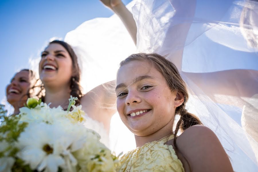
[{"label": "bare raised arm against blue sky at top centre", "polygon": [[110,8],[116,13],[124,23],[124,26],[128,30],[132,37],[134,44],[136,45],[136,23],[134,21],[132,13],[126,8],[121,0],[100,0],[106,7]]}]

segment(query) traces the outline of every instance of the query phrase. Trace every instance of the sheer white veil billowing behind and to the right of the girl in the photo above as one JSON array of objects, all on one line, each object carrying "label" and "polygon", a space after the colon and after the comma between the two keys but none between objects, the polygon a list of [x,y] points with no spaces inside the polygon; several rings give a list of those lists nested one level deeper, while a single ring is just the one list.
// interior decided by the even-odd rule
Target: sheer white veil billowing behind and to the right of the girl
[{"label": "sheer white veil billowing behind and to the right of the girl", "polygon": [[132,11],[138,52],[173,62],[188,111],[216,133],[234,171],[257,171],[258,2],[138,0]]}]

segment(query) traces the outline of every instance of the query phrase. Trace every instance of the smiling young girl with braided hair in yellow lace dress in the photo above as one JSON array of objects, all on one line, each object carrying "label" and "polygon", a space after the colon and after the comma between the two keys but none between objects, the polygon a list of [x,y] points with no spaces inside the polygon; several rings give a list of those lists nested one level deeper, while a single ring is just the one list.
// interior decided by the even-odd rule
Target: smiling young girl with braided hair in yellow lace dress
[{"label": "smiling young girl with braided hair in yellow lace dress", "polygon": [[187,88],[172,62],[132,54],[120,63],[116,83],[117,110],[137,146],[117,171],[233,171],[216,135],[185,109]]}]

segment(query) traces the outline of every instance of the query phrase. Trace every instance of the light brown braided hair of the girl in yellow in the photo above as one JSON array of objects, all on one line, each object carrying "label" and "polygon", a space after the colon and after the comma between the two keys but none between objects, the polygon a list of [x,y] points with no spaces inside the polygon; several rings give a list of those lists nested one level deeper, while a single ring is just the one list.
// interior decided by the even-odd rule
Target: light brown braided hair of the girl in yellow
[{"label": "light brown braided hair of the girl in yellow", "polygon": [[189,98],[185,81],[183,81],[177,67],[172,62],[156,53],[132,54],[120,63],[120,67],[134,60],[150,62],[150,64],[164,76],[171,91],[176,91],[177,97],[184,100],[182,105],[177,107],[175,110],[175,115],[180,116],[174,131],[174,146],[176,149],[178,149],[176,144],[176,135],[179,129],[183,132],[190,126],[202,124],[202,122],[195,115],[187,112],[185,109],[185,104]]}]

